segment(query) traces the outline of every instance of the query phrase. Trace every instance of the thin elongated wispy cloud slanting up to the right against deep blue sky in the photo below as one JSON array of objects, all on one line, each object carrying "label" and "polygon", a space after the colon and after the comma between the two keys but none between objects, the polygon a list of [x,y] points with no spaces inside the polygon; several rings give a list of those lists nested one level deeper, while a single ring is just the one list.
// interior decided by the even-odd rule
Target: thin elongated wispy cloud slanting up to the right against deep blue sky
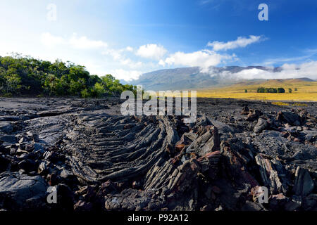
[{"label": "thin elongated wispy cloud slanting up to the right against deep blue sky", "polygon": [[235,41],[221,42],[213,41],[208,42],[207,46],[213,47],[213,51],[228,50],[228,49],[237,49],[243,48],[249,44],[256,43],[261,41],[261,36],[250,35],[247,37],[238,37]]}]

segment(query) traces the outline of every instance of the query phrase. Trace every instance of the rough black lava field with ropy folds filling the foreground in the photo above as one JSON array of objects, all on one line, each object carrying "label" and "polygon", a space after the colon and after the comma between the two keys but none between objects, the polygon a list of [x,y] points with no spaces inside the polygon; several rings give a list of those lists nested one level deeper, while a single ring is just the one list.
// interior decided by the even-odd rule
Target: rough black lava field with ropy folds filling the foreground
[{"label": "rough black lava field with ropy folds filling the foreground", "polygon": [[193,124],[120,103],[0,98],[0,209],[317,210],[316,103],[199,98]]}]

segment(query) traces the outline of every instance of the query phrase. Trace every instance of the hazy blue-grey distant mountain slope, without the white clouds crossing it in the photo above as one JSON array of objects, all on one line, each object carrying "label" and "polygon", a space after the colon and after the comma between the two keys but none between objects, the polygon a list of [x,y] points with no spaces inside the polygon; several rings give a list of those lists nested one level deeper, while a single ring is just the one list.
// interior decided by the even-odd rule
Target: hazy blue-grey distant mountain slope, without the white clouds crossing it
[{"label": "hazy blue-grey distant mountain slope, without the white clouds crossing it", "polygon": [[[144,73],[139,79],[129,82],[129,84],[138,85],[142,84],[144,89],[147,90],[185,90],[185,89],[204,89],[208,87],[221,87],[237,84],[239,82],[261,82],[266,79],[237,79],[233,77],[226,77],[221,75],[223,72],[237,73],[242,70],[271,70],[273,72],[280,72],[281,68],[266,68],[263,66],[228,66],[225,68],[210,68],[212,72],[201,72],[199,67],[189,68],[175,68],[156,70],[153,72]],[[313,81],[312,79],[303,77],[298,78],[302,81]]]}]

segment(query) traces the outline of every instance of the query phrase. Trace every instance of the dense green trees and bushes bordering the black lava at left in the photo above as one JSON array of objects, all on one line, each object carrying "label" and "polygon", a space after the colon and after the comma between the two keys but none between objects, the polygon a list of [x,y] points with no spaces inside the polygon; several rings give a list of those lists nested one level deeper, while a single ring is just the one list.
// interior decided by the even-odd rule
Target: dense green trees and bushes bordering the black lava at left
[{"label": "dense green trees and bushes bordering the black lava at left", "polygon": [[120,84],[112,75],[89,75],[82,65],[54,63],[28,56],[0,56],[0,96],[118,96],[136,87]]}]

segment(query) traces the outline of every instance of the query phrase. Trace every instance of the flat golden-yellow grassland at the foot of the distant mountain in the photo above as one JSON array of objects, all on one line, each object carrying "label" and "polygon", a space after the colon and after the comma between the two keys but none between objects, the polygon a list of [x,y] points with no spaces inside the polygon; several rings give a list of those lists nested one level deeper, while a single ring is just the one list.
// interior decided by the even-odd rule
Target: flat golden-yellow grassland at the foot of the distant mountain
[{"label": "flat golden-yellow grassland at the foot of the distant mountain", "polygon": [[[256,93],[256,89],[263,87],[282,87],[285,93]],[[294,89],[297,88],[297,91]],[[244,90],[247,89],[247,93]],[[292,89],[292,93],[288,92]],[[200,98],[242,98],[259,101],[317,101],[317,82],[301,82],[294,80],[273,79],[268,82],[257,84],[234,84],[222,88],[197,90],[197,97]]]}]

